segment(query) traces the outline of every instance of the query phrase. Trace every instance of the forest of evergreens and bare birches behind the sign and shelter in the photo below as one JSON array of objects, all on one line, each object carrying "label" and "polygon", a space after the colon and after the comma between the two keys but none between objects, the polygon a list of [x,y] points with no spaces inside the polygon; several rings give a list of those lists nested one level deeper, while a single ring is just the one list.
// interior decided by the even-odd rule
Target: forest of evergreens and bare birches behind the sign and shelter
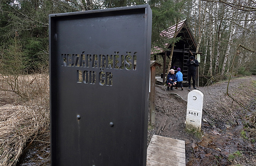
[{"label": "forest of evergreens and bare birches behind the sign and shelter", "polygon": [[[213,29],[212,64],[213,74],[217,74],[223,67],[224,56],[228,48],[230,25],[236,24],[233,42],[230,43],[228,62],[236,52],[236,46],[245,45],[256,50],[255,47],[255,4],[252,1],[241,0],[216,3],[211,0],[1,0],[0,1],[0,54],[7,54],[4,50],[13,44],[14,37],[19,39],[21,50],[28,56],[27,71],[39,71],[42,64],[47,65],[48,57],[48,15],[53,13],[68,13],[75,11],[106,9],[121,6],[149,4],[152,9],[152,48],[165,48],[165,43],[173,43],[176,39],[166,39],[160,36],[161,31],[177,23],[177,20],[187,19],[191,25],[200,50],[206,52],[206,43],[210,27]],[[220,6],[223,6],[220,10]],[[233,9],[236,15],[232,16]],[[213,13],[209,22],[209,13]],[[209,49],[209,47],[208,47]],[[241,48],[243,49],[243,48]],[[210,50],[208,50],[210,52]],[[237,65],[245,69],[253,69],[255,53],[241,51]],[[209,59],[209,56],[206,56]],[[42,60],[43,59],[43,60]],[[204,61],[204,56],[202,56]],[[207,67],[210,66],[206,61]],[[236,64],[235,64],[236,65]],[[208,69],[206,69],[208,71]]]}]

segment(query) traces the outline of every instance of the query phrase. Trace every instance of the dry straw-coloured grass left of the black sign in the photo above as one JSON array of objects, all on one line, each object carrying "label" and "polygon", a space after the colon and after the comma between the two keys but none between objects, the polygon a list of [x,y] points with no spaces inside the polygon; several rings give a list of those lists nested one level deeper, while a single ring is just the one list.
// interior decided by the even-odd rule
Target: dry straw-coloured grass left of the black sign
[{"label": "dry straw-coloured grass left of the black sign", "polygon": [[19,76],[15,90],[22,95],[11,92],[9,82],[0,78],[1,166],[15,166],[27,141],[48,129],[50,123],[48,75]]}]

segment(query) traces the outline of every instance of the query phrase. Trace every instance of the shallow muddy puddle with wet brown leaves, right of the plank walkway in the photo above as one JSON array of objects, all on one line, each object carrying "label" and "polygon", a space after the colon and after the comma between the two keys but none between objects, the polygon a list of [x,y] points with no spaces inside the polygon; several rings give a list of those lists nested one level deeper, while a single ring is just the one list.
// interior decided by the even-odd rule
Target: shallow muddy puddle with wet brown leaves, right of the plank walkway
[{"label": "shallow muddy puddle with wet brown leaves, right of the plank walkway", "polygon": [[193,155],[186,166],[228,166],[232,164],[228,160],[229,156],[237,151],[247,157],[251,155],[256,148],[250,147],[248,141],[241,138],[244,125],[242,121],[238,124],[233,128],[228,127],[225,132],[218,132],[217,128],[207,130],[202,141],[193,147]]}]

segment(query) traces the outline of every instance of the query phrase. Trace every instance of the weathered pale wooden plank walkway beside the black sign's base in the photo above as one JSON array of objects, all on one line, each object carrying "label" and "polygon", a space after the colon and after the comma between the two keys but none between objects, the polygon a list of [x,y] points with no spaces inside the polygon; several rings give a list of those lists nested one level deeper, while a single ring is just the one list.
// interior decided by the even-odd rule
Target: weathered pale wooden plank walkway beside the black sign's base
[{"label": "weathered pale wooden plank walkway beside the black sign's base", "polygon": [[153,135],[147,149],[147,166],[186,166],[185,141]]}]

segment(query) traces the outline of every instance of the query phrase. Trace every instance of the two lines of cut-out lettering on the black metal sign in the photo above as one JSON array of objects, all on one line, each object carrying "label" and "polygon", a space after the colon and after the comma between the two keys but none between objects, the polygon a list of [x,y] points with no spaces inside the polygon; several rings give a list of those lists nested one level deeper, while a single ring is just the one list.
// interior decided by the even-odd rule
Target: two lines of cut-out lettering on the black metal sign
[{"label": "two lines of cut-out lettering on the black metal sign", "polygon": [[[126,54],[61,54],[61,66],[77,67],[76,82],[84,84],[100,84],[101,86],[113,86],[113,73],[104,72],[104,69],[112,70],[136,70],[137,52]],[[84,69],[83,69],[84,68]],[[88,68],[90,70],[88,70]],[[100,69],[100,72],[95,71]]]}]

